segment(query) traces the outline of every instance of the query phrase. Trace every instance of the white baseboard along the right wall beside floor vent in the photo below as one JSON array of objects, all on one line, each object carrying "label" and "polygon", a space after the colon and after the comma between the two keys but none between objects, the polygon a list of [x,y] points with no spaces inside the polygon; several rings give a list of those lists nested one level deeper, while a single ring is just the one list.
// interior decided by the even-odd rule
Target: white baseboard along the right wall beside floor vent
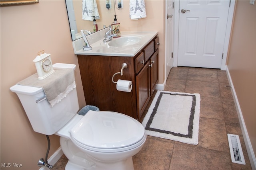
[{"label": "white baseboard along the right wall beside floor vent", "polygon": [[244,118],[243,118],[243,115],[242,115],[242,110],[240,108],[238,98],[236,96],[236,91],[234,89],[234,85],[233,85],[233,82],[232,82],[232,78],[230,76],[230,72],[228,70],[228,66],[226,66],[226,74],[228,76],[228,81],[229,81],[230,86],[231,86],[232,96],[234,98],[234,102],[235,102],[235,105],[236,105],[236,111],[237,111],[237,114],[238,114],[238,119],[239,119],[240,127],[241,127],[241,130],[242,130],[242,134],[243,134],[243,137],[244,137],[244,143],[246,145],[246,150],[247,150],[247,153],[248,153],[250,164],[252,166],[252,170],[256,170],[256,157],[255,157],[254,151],[252,149],[252,143],[250,142],[250,138],[249,138],[249,135],[248,135],[248,132],[247,132],[247,129],[246,129],[246,125],[245,125],[245,122],[244,122]]}]

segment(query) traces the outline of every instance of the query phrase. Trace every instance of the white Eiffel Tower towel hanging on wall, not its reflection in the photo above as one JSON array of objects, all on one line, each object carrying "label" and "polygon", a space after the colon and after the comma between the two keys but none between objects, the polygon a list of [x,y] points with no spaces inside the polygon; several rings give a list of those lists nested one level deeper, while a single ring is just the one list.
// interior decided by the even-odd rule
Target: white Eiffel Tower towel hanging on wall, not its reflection
[{"label": "white Eiffel Tower towel hanging on wall, not its reflection", "polygon": [[130,18],[138,20],[146,18],[146,6],[144,0],[130,0]]}]

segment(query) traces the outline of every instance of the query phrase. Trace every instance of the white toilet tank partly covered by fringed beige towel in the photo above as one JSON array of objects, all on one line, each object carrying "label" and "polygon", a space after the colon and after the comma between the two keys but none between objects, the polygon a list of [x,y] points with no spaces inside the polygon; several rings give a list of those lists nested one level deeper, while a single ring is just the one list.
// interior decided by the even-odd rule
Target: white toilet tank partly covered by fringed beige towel
[{"label": "white toilet tank partly covered by fringed beige towel", "polygon": [[[73,68],[75,64],[54,64],[54,68]],[[39,87],[14,85],[10,88],[20,99],[33,130],[45,135],[52,135],[62,128],[79,109],[76,88],[61,102],[51,107],[47,100],[42,100],[45,94]]]}]

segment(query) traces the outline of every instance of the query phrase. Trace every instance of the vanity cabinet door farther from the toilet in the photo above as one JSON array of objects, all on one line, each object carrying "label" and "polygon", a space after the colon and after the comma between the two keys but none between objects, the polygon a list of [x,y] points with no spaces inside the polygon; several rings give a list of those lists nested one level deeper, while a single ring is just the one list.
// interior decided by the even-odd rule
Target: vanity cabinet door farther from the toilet
[{"label": "vanity cabinet door farther from the toilet", "polygon": [[158,49],[150,58],[150,66],[150,96],[152,96],[158,83]]}]

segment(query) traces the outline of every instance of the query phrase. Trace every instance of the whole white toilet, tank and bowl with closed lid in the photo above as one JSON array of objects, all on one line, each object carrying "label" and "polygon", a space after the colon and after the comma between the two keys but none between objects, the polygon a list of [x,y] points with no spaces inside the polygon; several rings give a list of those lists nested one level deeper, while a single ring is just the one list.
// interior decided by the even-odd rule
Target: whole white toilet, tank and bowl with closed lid
[{"label": "whole white toilet, tank and bowl with closed lid", "polygon": [[[74,64],[54,64],[54,68],[76,68]],[[68,158],[66,170],[134,169],[132,156],[146,141],[144,127],[136,119],[112,111],[88,111],[78,115],[76,88],[51,107],[40,87],[16,84],[15,92],[33,130],[60,136],[60,146]]]}]

